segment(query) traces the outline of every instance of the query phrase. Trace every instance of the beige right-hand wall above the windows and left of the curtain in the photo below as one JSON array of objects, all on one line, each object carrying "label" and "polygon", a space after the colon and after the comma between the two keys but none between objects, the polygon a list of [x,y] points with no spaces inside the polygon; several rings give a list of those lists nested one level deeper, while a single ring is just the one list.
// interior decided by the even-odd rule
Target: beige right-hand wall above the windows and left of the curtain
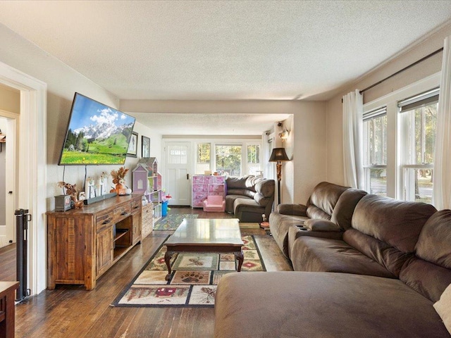
[{"label": "beige right-hand wall above the windows and left of the curtain", "polygon": [[[431,54],[443,47],[445,37],[451,35],[451,24],[441,27],[440,30],[425,37],[409,50],[384,63],[373,72],[363,76],[355,84],[343,90],[326,103],[327,120],[327,180],[338,184],[344,182],[343,151],[342,151],[342,96],[354,91],[371,86],[385,77],[396,73],[398,70],[414,63],[415,61]],[[364,93],[364,103],[378,99],[379,97],[405,87],[413,82],[433,75],[441,69],[443,53],[436,54],[426,61],[409,68],[400,75],[390,78],[376,87]]]}]

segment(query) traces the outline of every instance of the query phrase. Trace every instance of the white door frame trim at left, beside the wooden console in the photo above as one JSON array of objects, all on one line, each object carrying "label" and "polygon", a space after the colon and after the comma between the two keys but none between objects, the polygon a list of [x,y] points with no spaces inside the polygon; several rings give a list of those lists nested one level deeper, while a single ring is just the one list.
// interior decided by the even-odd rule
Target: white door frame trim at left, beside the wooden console
[{"label": "white door frame trim at left, beside the wooden console", "polygon": [[[47,196],[47,84],[0,62],[0,84],[20,92],[20,131],[16,161],[26,163],[16,167],[18,186],[16,206],[27,209],[32,219],[28,223],[28,286],[30,294],[38,294],[46,287],[46,231],[44,215]],[[17,128],[17,126],[16,126]],[[23,187],[20,189],[20,187]]]}]

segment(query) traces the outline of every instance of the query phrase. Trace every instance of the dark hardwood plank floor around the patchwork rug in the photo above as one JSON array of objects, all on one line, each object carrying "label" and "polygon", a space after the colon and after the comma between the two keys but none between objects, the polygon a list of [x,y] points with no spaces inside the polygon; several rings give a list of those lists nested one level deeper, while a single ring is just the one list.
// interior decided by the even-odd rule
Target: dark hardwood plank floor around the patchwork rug
[{"label": "dark hardwood plank floor around the patchwork rug", "polygon": [[[202,209],[171,208],[169,213],[198,213],[199,218],[231,218],[226,213]],[[142,239],[97,280],[97,287],[60,285],[16,305],[16,337],[212,337],[214,308],[111,307],[121,289],[139,272],[171,231],[156,230]],[[276,242],[261,229],[254,234],[266,270],[292,270]],[[0,249],[0,280],[15,280],[15,248]],[[13,254],[12,254],[13,253]],[[13,258],[11,258],[13,257]],[[262,290],[264,292],[264,290]]]}]

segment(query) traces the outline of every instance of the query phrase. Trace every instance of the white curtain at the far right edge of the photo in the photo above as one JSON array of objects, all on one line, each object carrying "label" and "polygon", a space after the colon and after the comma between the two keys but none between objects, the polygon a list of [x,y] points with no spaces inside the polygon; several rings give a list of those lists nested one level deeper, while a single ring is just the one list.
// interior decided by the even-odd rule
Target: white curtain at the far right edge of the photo
[{"label": "white curtain at the far right edge of the photo", "polygon": [[451,208],[451,37],[443,46],[442,78],[438,96],[433,173],[433,204]]}]

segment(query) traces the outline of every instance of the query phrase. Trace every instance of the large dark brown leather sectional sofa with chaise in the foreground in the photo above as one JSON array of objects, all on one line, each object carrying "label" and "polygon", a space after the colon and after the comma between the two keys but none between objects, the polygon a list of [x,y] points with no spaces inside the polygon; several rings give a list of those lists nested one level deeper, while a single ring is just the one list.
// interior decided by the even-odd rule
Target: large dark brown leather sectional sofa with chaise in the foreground
[{"label": "large dark brown leather sectional sofa with chaise in the foreground", "polygon": [[450,210],[322,182],[269,221],[295,271],[224,276],[216,338],[451,337],[433,308],[451,284]]}]

